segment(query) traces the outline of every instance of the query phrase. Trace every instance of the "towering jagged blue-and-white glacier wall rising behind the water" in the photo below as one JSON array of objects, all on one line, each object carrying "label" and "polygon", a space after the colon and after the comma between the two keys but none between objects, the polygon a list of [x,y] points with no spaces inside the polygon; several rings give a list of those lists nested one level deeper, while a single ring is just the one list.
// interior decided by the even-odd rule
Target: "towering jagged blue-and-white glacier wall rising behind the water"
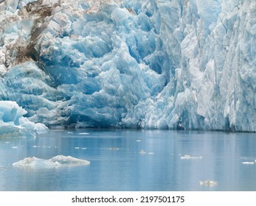
[{"label": "towering jagged blue-and-white glacier wall rising behind the water", "polygon": [[5,0],[0,99],[46,126],[256,131],[256,3]]}]

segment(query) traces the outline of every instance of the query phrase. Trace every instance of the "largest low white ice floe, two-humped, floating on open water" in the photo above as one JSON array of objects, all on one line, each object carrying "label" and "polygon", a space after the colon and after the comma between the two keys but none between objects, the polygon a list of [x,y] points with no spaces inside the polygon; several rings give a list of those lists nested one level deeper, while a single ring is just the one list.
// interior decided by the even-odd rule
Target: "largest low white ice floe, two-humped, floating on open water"
[{"label": "largest low white ice floe, two-humped, floating on open water", "polygon": [[13,163],[15,167],[24,168],[47,168],[52,166],[74,166],[74,165],[89,165],[88,160],[80,160],[71,156],[57,155],[49,160],[44,160],[38,157],[26,157]]}]

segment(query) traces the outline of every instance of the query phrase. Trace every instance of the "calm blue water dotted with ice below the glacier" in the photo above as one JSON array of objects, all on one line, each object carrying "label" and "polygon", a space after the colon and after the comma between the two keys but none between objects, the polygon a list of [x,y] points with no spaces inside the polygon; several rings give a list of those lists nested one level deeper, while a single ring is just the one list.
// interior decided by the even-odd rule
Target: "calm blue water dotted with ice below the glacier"
[{"label": "calm blue water dotted with ice below the glacier", "polygon": [[[91,164],[12,166],[58,154]],[[252,133],[55,130],[38,138],[0,138],[0,191],[256,191],[256,163],[243,164],[255,159]],[[218,185],[200,185],[204,180]]]}]

